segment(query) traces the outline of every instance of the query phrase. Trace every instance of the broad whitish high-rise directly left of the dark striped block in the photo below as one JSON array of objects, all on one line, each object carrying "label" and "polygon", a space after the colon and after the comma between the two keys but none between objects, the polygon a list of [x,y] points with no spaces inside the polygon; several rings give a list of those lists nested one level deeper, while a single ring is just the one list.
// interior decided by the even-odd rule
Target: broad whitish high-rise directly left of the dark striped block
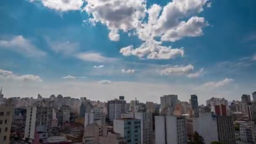
[{"label": "broad whitish high-rise directly left of the dark striped block", "polygon": [[199,117],[193,117],[193,129],[205,140],[205,144],[219,141],[216,115],[213,112],[200,112]]}]

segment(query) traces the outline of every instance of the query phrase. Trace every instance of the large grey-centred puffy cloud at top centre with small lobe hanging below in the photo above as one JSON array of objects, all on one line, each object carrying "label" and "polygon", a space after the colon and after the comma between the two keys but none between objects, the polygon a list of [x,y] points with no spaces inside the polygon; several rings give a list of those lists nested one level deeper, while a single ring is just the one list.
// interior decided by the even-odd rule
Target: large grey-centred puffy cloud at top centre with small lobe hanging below
[{"label": "large grey-centred puffy cloud at top centre with small lobe hanging below", "polygon": [[128,30],[138,27],[146,16],[145,0],[85,0],[84,11],[91,15],[90,21],[106,24],[110,30],[110,40],[119,40],[118,29]]}]

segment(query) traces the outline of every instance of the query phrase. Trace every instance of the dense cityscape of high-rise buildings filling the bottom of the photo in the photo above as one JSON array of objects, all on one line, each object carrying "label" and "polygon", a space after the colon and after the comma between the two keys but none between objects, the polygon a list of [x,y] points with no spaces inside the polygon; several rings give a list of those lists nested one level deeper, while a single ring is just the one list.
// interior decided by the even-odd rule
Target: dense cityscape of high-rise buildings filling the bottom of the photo
[{"label": "dense cityscape of high-rise buildings filling the bottom of the photo", "polygon": [[178,95],[160,104],[107,102],[62,96],[5,98],[0,90],[0,137],[4,144],[254,144],[256,92],[241,100],[214,98],[198,105]]}]

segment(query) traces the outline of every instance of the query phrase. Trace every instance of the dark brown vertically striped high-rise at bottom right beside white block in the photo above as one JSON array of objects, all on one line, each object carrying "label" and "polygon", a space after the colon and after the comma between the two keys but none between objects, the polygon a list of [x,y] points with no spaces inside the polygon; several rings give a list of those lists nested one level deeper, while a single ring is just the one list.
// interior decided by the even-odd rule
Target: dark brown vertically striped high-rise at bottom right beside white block
[{"label": "dark brown vertically striped high-rise at bottom right beside white block", "polygon": [[219,141],[235,144],[235,128],[232,116],[217,116]]}]

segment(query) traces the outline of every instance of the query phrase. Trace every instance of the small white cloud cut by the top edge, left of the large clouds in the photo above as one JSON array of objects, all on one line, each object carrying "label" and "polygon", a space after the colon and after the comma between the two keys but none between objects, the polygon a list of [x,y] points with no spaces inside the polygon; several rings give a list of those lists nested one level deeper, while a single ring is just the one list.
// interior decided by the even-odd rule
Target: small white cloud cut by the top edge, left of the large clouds
[{"label": "small white cloud cut by the top edge, left of the large clouds", "polygon": [[30,0],[31,2],[40,1],[43,6],[57,11],[75,11],[83,6],[83,0]]}]

